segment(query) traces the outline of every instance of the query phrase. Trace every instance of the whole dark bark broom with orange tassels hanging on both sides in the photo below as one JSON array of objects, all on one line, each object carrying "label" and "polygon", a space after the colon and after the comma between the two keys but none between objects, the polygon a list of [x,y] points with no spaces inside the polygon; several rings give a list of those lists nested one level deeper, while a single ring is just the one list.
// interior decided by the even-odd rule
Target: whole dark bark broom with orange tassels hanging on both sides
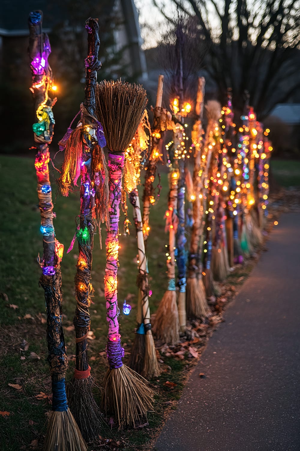
[{"label": "whole dark bark broom with orange tassels hanging on both sides", "polygon": [[75,276],[76,311],[74,327],[76,334],[76,366],[72,381],[67,386],[67,396],[74,417],[85,440],[98,437],[101,427],[101,413],[95,403],[92,388],[94,379],[90,375],[88,356],[88,333],[90,331],[91,294],[90,283],[92,251],[94,244],[94,224],[96,216],[101,221],[107,219],[107,179],[102,147],[106,142],[101,124],[95,118],[95,87],[98,61],[99,24],[98,19],[89,18],[85,28],[88,33],[88,54],[85,59],[85,100],[81,104],[81,120],[70,136],[65,136],[66,147],[60,177],[60,187],[67,196],[71,184],[76,186],[81,176],[80,215],[76,235],[78,240],[78,260]]}]

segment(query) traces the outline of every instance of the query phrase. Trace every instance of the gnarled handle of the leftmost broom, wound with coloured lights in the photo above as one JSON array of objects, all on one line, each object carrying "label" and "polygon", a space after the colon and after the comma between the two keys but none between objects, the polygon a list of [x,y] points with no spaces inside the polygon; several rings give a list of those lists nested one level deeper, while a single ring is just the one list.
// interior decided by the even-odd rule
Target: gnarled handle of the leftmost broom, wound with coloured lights
[{"label": "gnarled handle of the leftmost broom, wound with coloured lights", "polygon": [[[37,113],[47,113],[49,120],[48,127],[44,133],[34,134],[37,154],[36,154],[36,176],[38,181],[38,197],[41,216],[41,226],[47,227],[43,231],[44,256],[42,262],[43,274],[40,278],[40,284],[45,290],[45,301],[47,311],[47,342],[48,342],[48,361],[50,364],[50,373],[52,381],[63,380],[67,371],[67,351],[63,335],[63,311],[62,311],[62,293],[61,293],[61,272],[60,257],[55,251],[55,239],[53,227],[53,203],[51,196],[51,185],[49,181],[49,143],[52,142],[54,119],[52,114],[52,101],[48,96],[49,85],[52,83],[52,71],[48,64],[48,56],[51,52],[47,34],[42,33],[43,13],[40,10],[33,11],[28,19],[30,31],[28,53],[31,60],[32,85],[35,110]],[[48,106],[47,106],[47,103]],[[40,111],[40,107],[43,106]],[[43,121],[40,121],[40,124]],[[48,267],[48,269],[47,269]],[[52,271],[51,269],[52,268]],[[47,271],[50,273],[47,274]],[[55,405],[57,405],[56,393],[53,389]],[[62,397],[60,406],[62,405]],[[54,402],[54,400],[53,400]],[[58,402],[59,404],[59,402]],[[54,408],[54,403],[53,403]]]}]

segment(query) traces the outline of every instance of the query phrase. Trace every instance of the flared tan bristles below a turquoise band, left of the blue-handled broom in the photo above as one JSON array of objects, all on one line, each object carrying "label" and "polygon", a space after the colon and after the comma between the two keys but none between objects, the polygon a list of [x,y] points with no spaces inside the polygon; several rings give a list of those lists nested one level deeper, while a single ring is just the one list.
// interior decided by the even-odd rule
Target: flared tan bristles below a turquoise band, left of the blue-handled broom
[{"label": "flared tan bristles below a turquoise band, left of the blue-handled broom", "polygon": [[180,324],[176,301],[176,291],[167,290],[157,308],[153,326],[157,338],[168,345],[176,345],[179,342]]}]

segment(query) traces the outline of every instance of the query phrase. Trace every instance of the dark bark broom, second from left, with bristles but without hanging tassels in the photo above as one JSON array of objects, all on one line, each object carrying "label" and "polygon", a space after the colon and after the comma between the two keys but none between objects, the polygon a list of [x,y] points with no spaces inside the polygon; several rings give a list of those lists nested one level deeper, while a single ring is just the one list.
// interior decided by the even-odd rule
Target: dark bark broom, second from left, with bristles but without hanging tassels
[{"label": "dark bark broom, second from left, with bristles but without hanging tassels", "polygon": [[[76,229],[78,241],[78,260],[75,276],[76,310],[74,327],[76,336],[76,366],[72,381],[67,387],[67,395],[76,422],[85,440],[98,437],[101,428],[101,413],[92,393],[93,378],[90,376],[88,356],[88,333],[90,331],[90,296],[93,287],[90,283],[92,252],[94,245],[95,191],[92,161],[98,144],[99,124],[95,119],[97,70],[101,63],[99,52],[98,19],[89,18],[85,28],[88,33],[88,54],[85,59],[85,100],[81,106],[81,126],[76,154],[80,161],[80,215]],[[75,135],[74,135],[75,136]],[[72,140],[72,135],[69,138]],[[76,164],[77,166],[77,164]]]}]

